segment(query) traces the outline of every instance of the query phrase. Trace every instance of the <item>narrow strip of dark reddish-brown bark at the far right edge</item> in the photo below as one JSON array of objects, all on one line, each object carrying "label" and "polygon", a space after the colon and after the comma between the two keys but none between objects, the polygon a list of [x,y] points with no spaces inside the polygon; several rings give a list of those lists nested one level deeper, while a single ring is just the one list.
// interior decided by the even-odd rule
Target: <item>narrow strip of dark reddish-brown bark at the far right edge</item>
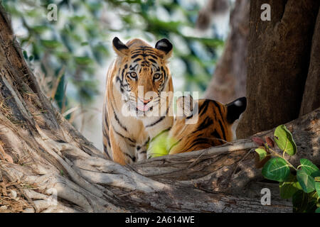
[{"label": "narrow strip of dark reddish-brown bark at the far right edge", "polygon": [[308,114],[320,106],[320,8],[314,26],[308,77],[304,86],[304,96],[300,116]]}]

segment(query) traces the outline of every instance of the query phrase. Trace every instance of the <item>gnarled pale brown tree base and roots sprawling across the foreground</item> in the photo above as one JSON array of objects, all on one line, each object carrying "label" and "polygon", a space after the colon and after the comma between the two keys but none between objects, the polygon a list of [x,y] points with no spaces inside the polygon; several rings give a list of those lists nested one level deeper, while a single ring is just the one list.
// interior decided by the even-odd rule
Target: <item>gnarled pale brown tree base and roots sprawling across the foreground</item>
[{"label": "gnarled pale brown tree base and roots sprawling across the foreground", "polygon": [[[292,211],[278,184],[255,168],[250,139],[134,165],[105,159],[43,95],[1,6],[0,28],[0,193],[8,195],[0,211]],[[320,164],[319,116],[316,109],[287,123],[299,149],[295,164],[299,157]],[[260,203],[262,188],[271,190],[270,206]],[[53,192],[57,204],[48,200]]]}]

